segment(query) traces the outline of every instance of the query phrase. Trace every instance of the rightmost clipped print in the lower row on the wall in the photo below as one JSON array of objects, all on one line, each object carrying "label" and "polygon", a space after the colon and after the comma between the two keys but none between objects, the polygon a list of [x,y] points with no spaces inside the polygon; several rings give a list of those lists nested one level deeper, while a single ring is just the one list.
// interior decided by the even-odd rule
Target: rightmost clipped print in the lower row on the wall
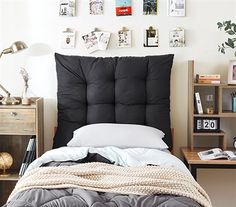
[{"label": "rightmost clipped print in the lower row on the wall", "polygon": [[177,27],[174,30],[170,31],[170,47],[184,47],[185,46],[185,37],[184,29]]}]

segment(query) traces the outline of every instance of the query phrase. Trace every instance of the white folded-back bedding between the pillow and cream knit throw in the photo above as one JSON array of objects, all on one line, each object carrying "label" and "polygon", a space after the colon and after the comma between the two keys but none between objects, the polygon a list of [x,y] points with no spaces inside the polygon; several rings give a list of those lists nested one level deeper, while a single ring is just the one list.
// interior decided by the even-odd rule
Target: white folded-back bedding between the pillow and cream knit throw
[{"label": "white folded-back bedding between the pillow and cream knit throw", "polygon": [[27,171],[52,161],[77,161],[85,158],[88,153],[98,153],[116,165],[121,166],[145,166],[151,164],[171,167],[189,173],[184,163],[168,150],[147,148],[120,149],[112,146],[103,148],[61,147],[53,149],[32,162]]}]

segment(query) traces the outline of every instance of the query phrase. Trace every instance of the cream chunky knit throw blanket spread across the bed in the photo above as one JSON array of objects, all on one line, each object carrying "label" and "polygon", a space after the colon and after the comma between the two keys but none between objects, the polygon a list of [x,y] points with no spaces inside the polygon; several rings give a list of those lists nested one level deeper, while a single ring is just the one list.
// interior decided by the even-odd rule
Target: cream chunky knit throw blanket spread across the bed
[{"label": "cream chunky knit throw blanket spread across the bed", "polygon": [[158,166],[120,167],[99,162],[33,169],[18,181],[8,201],[32,188],[70,187],[121,194],[172,194],[212,206],[206,192],[187,173]]}]

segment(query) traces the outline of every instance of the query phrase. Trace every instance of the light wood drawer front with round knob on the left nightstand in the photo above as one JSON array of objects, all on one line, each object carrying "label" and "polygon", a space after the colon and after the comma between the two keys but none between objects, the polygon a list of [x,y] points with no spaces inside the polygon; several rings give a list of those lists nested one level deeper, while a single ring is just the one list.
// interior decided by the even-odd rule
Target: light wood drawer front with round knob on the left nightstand
[{"label": "light wood drawer front with round knob on the left nightstand", "polygon": [[0,134],[35,134],[35,120],[35,109],[1,109]]}]

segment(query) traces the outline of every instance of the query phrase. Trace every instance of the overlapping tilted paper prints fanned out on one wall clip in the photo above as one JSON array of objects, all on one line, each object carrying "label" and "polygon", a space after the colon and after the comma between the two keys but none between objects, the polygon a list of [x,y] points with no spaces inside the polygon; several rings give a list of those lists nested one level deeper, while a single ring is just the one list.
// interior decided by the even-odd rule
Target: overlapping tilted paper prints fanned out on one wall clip
[{"label": "overlapping tilted paper prints fanned out on one wall clip", "polygon": [[88,52],[92,53],[97,50],[106,50],[110,36],[110,32],[99,31],[95,28],[94,31],[83,35],[82,39]]}]

